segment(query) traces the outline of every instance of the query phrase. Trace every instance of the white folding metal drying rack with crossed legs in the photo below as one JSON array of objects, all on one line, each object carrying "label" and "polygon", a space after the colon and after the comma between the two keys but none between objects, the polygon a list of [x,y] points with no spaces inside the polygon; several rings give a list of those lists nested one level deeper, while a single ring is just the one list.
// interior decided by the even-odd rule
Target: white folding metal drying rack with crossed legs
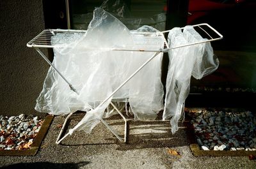
[{"label": "white folding metal drying rack with crossed legs", "polygon": [[[142,36],[154,36],[154,37],[163,38],[164,48],[157,48],[157,49],[156,48],[155,49],[154,48],[135,48],[134,49],[133,47],[131,47],[131,48],[111,48],[111,50],[135,51],[135,52],[155,52],[155,53],[146,62],[144,62],[140,66],[140,68],[138,68],[138,70],[134,71],[134,73],[132,73],[132,75],[129,78],[127,78],[127,80],[125,80],[119,87],[117,87],[115,89],[115,91],[113,91],[106,99],[104,99],[104,101],[102,101],[102,103],[100,103],[100,105],[98,107],[100,107],[106,101],[108,101],[109,98],[111,98],[122,86],[124,86],[132,77],[134,77],[134,75],[136,75],[136,73],[138,73],[146,64],[148,64],[148,62],[150,62],[152,59],[154,59],[154,57],[156,57],[160,52],[168,52],[169,50],[172,50],[174,48],[188,47],[190,45],[196,45],[199,43],[206,43],[209,41],[221,40],[223,38],[223,36],[220,33],[218,33],[218,31],[216,31],[213,27],[209,26],[209,24],[197,24],[197,25],[193,25],[193,27],[198,27],[198,28],[202,29],[202,31],[204,31],[205,34],[207,34],[209,36],[209,38],[208,38],[209,40],[198,41],[196,43],[188,43],[186,45],[180,45],[178,47],[170,48],[166,39],[164,38],[164,33],[170,32],[170,30],[168,30],[168,31],[160,32],[160,33],[140,33]],[[212,30],[212,32],[217,35],[217,38],[212,38],[212,36],[209,33],[207,33],[207,31],[205,31],[205,29],[203,27],[208,27],[210,30]],[[182,27],[181,29],[184,29],[184,27]],[[70,89],[72,91],[76,92],[77,94],[79,94],[79,92],[77,92],[77,90],[72,86],[72,84],[70,82],[68,82],[68,80],[60,73],[60,71],[58,71],[58,69],[51,63],[51,61],[49,61],[49,59],[47,59],[47,57],[44,55],[44,53],[39,48],[61,47],[61,45],[62,45],[61,43],[57,43],[56,45],[51,44],[51,41],[54,40],[54,38],[56,38],[56,34],[58,34],[58,35],[61,34],[61,38],[68,39],[70,36],[73,36],[74,34],[84,34],[84,33],[86,33],[86,31],[83,31],[83,30],[45,29],[44,31],[42,31],[42,33],[38,34],[37,36],[35,36],[35,38],[33,38],[33,40],[31,40],[27,43],[28,47],[35,48],[35,50],[45,59],[45,61],[48,62],[48,64],[50,66],[52,66],[52,68],[60,75],[60,77],[63,78],[63,80],[65,80],[65,82],[67,82]],[[60,36],[58,38],[60,38]],[[104,121],[103,119],[100,119],[100,121],[116,136],[116,138],[118,138],[118,140],[120,140],[120,142],[126,142],[127,141],[126,140],[126,138],[127,138],[127,120],[125,119],[124,115],[120,112],[120,110],[118,110],[118,108],[116,108],[112,102],[110,104],[112,105],[113,108],[115,108],[115,110],[118,112],[118,114],[120,114],[121,117],[124,119],[124,122],[125,122],[124,138],[121,138],[116,133],[116,131],[113,128],[111,128],[111,126],[108,125],[108,123],[106,121]],[[63,130],[67,124],[67,121],[72,114],[74,114],[74,113],[68,114],[67,118],[65,119],[63,126],[61,128],[61,131],[56,140],[57,144],[59,144],[64,138],[66,138],[69,135],[69,133],[67,133],[65,136],[63,136],[61,138],[61,135],[62,135]]]}]

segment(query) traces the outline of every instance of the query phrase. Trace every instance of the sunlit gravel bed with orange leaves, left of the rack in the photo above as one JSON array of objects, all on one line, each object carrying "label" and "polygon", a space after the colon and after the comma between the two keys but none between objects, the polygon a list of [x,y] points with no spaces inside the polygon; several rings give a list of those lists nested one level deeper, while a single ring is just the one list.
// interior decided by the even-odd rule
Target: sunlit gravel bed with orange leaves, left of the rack
[{"label": "sunlit gravel bed with orange leaves, left of the rack", "polygon": [[32,115],[0,115],[0,151],[29,149],[43,121]]}]

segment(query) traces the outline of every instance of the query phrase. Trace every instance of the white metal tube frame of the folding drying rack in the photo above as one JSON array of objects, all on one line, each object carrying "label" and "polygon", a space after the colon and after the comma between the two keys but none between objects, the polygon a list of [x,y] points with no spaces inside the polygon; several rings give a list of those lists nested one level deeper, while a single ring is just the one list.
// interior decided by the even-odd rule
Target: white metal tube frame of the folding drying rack
[{"label": "white metal tube frame of the folding drying rack", "polygon": [[[196,26],[198,26],[198,27],[200,27],[200,26],[207,26],[207,27],[209,27],[210,29],[212,29],[212,31],[214,31],[214,33],[218,34],[219,37],[218,37],[218,38],[212,38],[204,29],[202,29],[202,27],[200,27],[200,29],[202,29],[203,31],[205,31],[205,33],[208,34],[208,35],[211,37],[211,40],[200,41],[200,42],[197,42],[197,43],[189,43],[189,44],[187,44],[187,45],[181,45],[181,46],[179,46],[179,47],[172,47],[172,48],[170,48],[170,47],[168,46],[168,43],[167,43],[166,39],[164,38],[164,43],[165,43],[166,47],[165,47],[165,48],[159,48],[158,50],[154,50],[154,49],[153,49],[153,50],[152,50],[152,49],[143,49],[143,50],[141,50],[141,49],[134,49],[134,48],[112,48],[111,50],[135,51],[135,52],[154,52],[154,55],[152,55],[152,57],[150,57],[146,62],[144,62],[144,63],[140,66],[140,68],[138,68],[136,71],[134,71],[134,73],[132,73],[132,75],[131,75],[129,78],[127,78],[127,80],[125,80],[119,87],[117,87],[117,88],[115,89],[115,91],[113,91],[106,99],[104,99],[104,101],[102,101],[98,107],[100,107],[100,106],[102,106],[104,103],[106,103],[106,101],[108,101],[108,99],[110,99],[116,92],[118,92],[118,90],[120,90],[122,86],[124,86],[125,84],[127,84],[127,82],[129,82],[129,80],[131,80],[131,78],[134,77],[134,75],[136,75],[145,65],[148,64],[148,62],[150,62],[152,59],[154,59],[154,57],[156,57],[156,56],[157,56],[158,54],[160,54],[161,52],[168,52],[169,50],[172,50],[172,49],[174,49],[174,48],[187,47],[187,46],[196,45],[196,44],[199,44],[199,43],[206,43],[206,42],[209,42],[209,41],[221,40],[221,39],[223,38],[223,36],[222,36],[220,33],[218,33],[218,31],[216,31],[213,27],[209,26],[208,24],[198,24],[198,25],[194,25],[193,27],[196,27]],[[184,29],[184,27],[182,27],[181,29]],[[50,31],[50,32],[52,33],[52,35],[54,36],[54,35],[55,35],[55,34],[54,34],[54,31],[58,32],[58,31],[63,31],[63,30],[49,29],[49,31]],[[65,31],[65,30],[64,30],[64,31]],[[65,32],[67,32],[67,33],[73,33],[73,32],[74,32],[74,33],[76,33],[76,32],[78,32],[78,33],[85,33],[86,31],[78,31],[78,30],[70,30],[70,29],[68,29],[68,30],[66,30]],[[168,32],[170,32],[170,30],[160,32],[160,34],[161,34],[161,36],[163,36],[163,33],[168,33]],[[40,34],[43,34],[43,33],[44,33],[44,31],[43,31],[42,33],[40,33]],[[68,82],[68,80],[60,73],[60,71],[58,71],[58,69],[51,63],[51,61],[49,61],[49,59],[47,59],[47,57],[46,57],[46,56],[43,54],[43,52],[39,49],[39,48],[54,48],[54,46],[52,46],[52,45],[47,45],[47,44],[45,44],[45,43],[41,43],[41,42],[40,42],[40,34],[38,34],[38,36],[36,36],[35,38],[33,38],[33,40],[29,41],[29,43],[27,43],[27,46],[28,46],[28,47],[33,47],[33,48],[35,48],[35,50],[44,58],[44,60],[45,60],[50,66],[52,66],[52,68],[60,75],[60,77],[63,78],[63,80],[65,80],[65,82],[67,82],[67,84],[69,85],[70,89],[71,89],[72,91],[76,92],[76,94],[79,94],[79,92],[77,92],[76,88],[73,87],[70,82]],[[158,34],[159,34],[159,33],[158,33]],[[163,36],[163,37],[164,37],[164,36]],[[38,40],[39,40],[39,42],[38,42]],[[50,38],[50,40],[51,40],[51,38]],[[34,42],[35,42],[35,43],[38,43],[38,44],[35,44]],[[109,124],[108,124],[106,121],[104,121],[103,119],[100,119],[100,121],[109,129],[109,131],[111,131],[111,133],[113,133],[113,135],[116,136],[116,138],[118,138],[118,140],[120,140],[120,142],[126,143],[126,142],[127,142],[127,119],[124,117],[124,115],[122,114],[122,112],[120,112],[120,110],[118,110],[118,108],[115,107],[115,105],[114,105],[112,102],[110,102],[110,105],[111,105],[113,108],[115,108],[115,110],[116,110],[116,111],[118,112],[118,114],[122,117],[122,119],[124,119],[124,122],[125,122],[125,124],[124,124],[124,138],[121,138],[121,137],[118,135],[118,133],[116,133],[116,131],[115,131],[113,128],[111,128],[111,126],[109,126]],[[65,126],[67,125],[67,121],[68,121],[68,119],[71,117],[71,115],[73,115],[73,114],[74,114],[74,112],[68,114],[68,116],[66,117],[65,121],[63,122],[63,126],[62,126],[61,131],[60,131],[60,133],[59,133],[59,135],[58,135],[58,138],[57,138],[57,140],[56,140],[56,144],[61,143],[62,140],[64,140],[68,135],[70,135],[69,133],[67,133],[66,135],[64,135],[64,136],[61,138],[61,135],[62,135],[62,133],[63,133],[63,131],[64,131],[64,128],[65,128]]]}]

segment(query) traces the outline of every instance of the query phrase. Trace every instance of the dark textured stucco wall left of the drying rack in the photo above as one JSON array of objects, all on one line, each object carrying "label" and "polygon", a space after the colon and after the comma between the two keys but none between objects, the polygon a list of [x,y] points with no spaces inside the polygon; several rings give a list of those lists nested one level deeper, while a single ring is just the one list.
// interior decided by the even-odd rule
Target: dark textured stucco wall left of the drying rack
[{"label": "dark textured stucco wall left of the drying rack", "polygon": [[44,30],[42,1],[0,1],[0,114],[36,114],[35,99],[49,66],[31,38]]}]

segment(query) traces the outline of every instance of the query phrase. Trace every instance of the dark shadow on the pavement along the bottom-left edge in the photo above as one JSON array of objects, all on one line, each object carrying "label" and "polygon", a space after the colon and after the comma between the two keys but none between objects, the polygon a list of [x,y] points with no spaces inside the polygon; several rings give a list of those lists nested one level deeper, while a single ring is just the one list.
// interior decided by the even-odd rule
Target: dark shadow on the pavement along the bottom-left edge
[{"label": "dark shadow on the pavement along the bottom-left edge", "polygon": [[37,162],[37,163],[17,163],[15,165],[9,165],[9,166],[4,166],[3,169],[14,169],[14,168],[19,168],[19,169],[29,169],[29,168],[37,168],[37,169],[47,169],[47,168],[68,168],[68,169],[77,169],[80,168],[81,166],[88,165],[90,162],[84,161],[80,163],[49,163],[49,162]]}]

